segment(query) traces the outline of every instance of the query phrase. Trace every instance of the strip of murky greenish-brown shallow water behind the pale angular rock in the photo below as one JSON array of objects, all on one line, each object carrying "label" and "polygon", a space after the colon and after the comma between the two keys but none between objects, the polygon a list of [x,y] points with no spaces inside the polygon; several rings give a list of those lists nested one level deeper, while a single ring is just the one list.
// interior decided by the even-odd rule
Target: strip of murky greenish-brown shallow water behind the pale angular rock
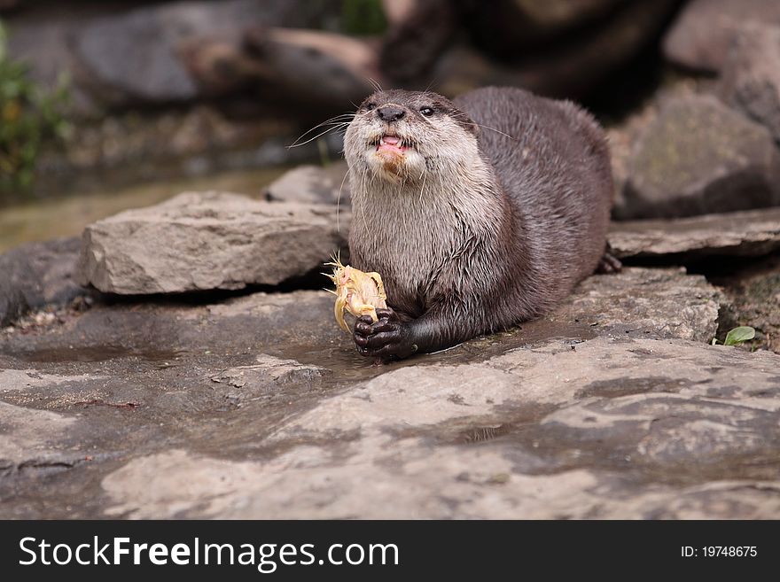
[{"label": "strip of murky greenish-brown shallow water behind the pale angular rock", "polygon": [[187,190],[224,190],[258,197],[263,187],[286,169],[268,167],[232,171],[0,206],[0,252],[22,243],[79,236],[91,222],[128,208],[157,204]]}]

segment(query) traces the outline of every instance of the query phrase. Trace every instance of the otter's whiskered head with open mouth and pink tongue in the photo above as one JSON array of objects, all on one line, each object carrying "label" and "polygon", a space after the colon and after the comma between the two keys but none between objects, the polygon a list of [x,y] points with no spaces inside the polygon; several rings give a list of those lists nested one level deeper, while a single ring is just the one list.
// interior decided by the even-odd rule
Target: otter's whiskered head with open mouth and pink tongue
[{"label": "otter's whiskered head with open mouth and pink tongue", "polygon": [[379,91],[355,113],[344,136],[344,153],[350,171],[358,175],[417,182],[428,172],[468,167],[478,159],[478,131],[477,124],[446,97]]}]

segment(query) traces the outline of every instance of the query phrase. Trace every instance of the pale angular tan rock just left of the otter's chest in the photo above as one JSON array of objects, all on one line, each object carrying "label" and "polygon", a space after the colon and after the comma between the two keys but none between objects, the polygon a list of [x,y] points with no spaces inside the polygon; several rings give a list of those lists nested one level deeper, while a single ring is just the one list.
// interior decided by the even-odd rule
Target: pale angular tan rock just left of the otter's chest
[{"label": "pale angular tan rock just left of the otter's chest", "polygon": [[187,192],[87,227],[79,276],[120,294],[276,285],[320,268],[345,244],[331,206]]}]

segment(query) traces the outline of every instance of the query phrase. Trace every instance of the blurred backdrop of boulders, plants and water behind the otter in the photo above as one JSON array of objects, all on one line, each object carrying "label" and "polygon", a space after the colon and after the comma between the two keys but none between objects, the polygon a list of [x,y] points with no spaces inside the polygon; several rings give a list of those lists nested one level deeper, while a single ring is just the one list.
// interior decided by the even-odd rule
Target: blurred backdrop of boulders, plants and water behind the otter
[{"label": "blurred backdrop of boulders, plants and water behind the otter", "polygon": [[0,0],[0,26],[0,252],[183,190],[343,172],[338,130],[288,146],[374,82],[580,101],[617,219],[780,202],[777,0]]}]

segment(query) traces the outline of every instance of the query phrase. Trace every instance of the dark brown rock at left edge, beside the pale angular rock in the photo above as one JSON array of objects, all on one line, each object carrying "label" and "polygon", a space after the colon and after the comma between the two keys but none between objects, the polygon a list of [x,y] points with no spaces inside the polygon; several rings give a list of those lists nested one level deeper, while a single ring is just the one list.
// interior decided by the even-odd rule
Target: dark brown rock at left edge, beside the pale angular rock
[{"label": "dark brown rock at left edge, beside the pale angular rock", "polygon": [[28,243],[0,255],[0,328],[30,309],[65,305],[83,295],[74,283],[78,238]]}]

